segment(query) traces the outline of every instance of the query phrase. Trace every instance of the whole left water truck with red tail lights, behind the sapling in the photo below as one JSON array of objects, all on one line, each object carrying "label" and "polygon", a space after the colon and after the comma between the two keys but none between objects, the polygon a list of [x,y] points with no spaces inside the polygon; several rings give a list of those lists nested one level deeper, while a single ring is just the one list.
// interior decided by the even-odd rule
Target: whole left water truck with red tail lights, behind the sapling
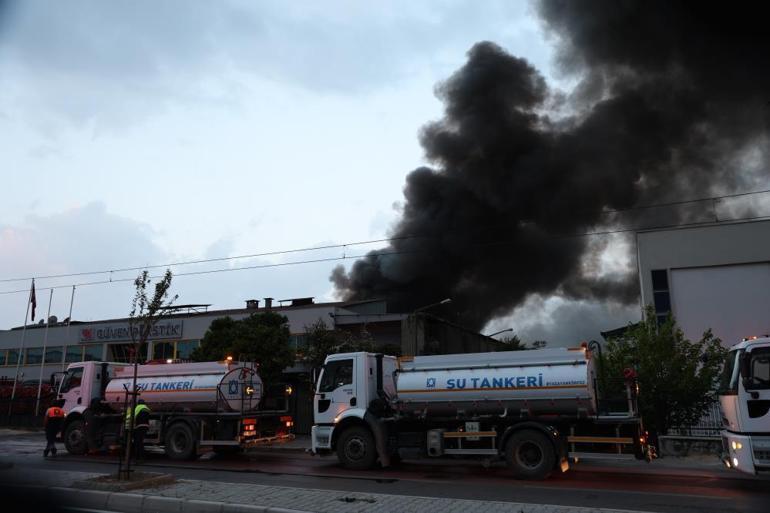
[{"label": "whole left water truck with red tail lights, behind the sapling", "polygon": [[[58,396],[65,400],[63,441],[68,452],[85,454],[89,445],[120,444],[133,376],[134,367],[127,364],[69,365]],[[265,386],[253,364],[139,365],[136,390],[152,411],[145,445],[163,446],[173,459],[193,458],[204,447],[227,453],[293,438],[291,387]],[[86,418],[94,419],[95,432],[86,432]]]}]

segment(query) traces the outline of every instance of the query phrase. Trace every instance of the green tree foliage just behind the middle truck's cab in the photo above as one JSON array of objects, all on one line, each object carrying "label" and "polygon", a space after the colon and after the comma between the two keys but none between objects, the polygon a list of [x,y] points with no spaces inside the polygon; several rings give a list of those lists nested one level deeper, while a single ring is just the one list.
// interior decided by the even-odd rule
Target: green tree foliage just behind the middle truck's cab
[{"label": "green tree foliage just behind the middle truck's cab", "polygon": [[[318,368],[330,354],[352,353],[356,351],[383,352],[385,349],[393,350],[393,346],[376,347],[371,334],[362,329],[358,333],[347,330],[330,330],[323,319],[318,319],[310,326],[305,326],[307,349],[303,360],[311,367]],[[398,348],[400,353],[400,347]],[[394,354],[394,353],[385,353]],[[398,356],[396,354],[396,356]]]}]

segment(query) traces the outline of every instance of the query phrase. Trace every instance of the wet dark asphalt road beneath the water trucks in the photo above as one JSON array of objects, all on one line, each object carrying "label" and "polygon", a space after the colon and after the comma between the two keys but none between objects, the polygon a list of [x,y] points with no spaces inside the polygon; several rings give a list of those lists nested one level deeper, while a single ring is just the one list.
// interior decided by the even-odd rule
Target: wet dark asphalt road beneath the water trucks
[{"label": "wet dark asphalt road beneath the water trucks", "polygon": [[[0,459],[25,469],[109,473],[117,467],[115,457],[75,457],[63,450],[57,458],[44,460],[42,438],[38,434],[0,436]],[[526,482],[508,477],[502,465],[485,468],[480,462],[459,459],[407,461],[391,469],[352,472],[339,467],[336,458],[296,451],[212,456],[174,462],[150,454],[138,468],[182,479],[651,512],[767,513],[770,504],[770,477],[728,472],[708,458],[685,465],[665,460],[581,462],[546,481]]]}]

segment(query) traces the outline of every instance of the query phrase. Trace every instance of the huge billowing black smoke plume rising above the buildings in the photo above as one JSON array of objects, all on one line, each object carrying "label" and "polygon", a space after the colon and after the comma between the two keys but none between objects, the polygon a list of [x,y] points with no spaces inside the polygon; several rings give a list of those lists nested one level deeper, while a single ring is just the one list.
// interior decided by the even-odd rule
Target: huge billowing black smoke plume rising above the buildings
[{"label": "huge billowing black smoke plume rising above the buildings", "polygon": [[590,268],[605,243],[576,234],[708,220],[711,203],[607,210],[767,180],[761,11],[761,2],[542,1],[559,68],[579,78],[569,94],[499,46],[474,45],[437,87],[444,116],[420,136],[432,167],[407,176],[396,240],[349,273],[335,269],[339,294],[400,311],[451,297],[476,328],[532,293],[637,301],[634,273],[597,277]]}]

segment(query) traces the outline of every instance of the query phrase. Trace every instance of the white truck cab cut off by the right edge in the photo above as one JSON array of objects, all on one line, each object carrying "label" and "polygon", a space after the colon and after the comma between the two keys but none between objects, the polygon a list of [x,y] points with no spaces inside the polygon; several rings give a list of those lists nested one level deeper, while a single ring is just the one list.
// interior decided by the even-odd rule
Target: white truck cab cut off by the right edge
[{"label": "white truck cab cut off by the right edge", "polygon": [[770,471],[770,337],[730,349],[719,390],[722,461],[756,475]]}]

